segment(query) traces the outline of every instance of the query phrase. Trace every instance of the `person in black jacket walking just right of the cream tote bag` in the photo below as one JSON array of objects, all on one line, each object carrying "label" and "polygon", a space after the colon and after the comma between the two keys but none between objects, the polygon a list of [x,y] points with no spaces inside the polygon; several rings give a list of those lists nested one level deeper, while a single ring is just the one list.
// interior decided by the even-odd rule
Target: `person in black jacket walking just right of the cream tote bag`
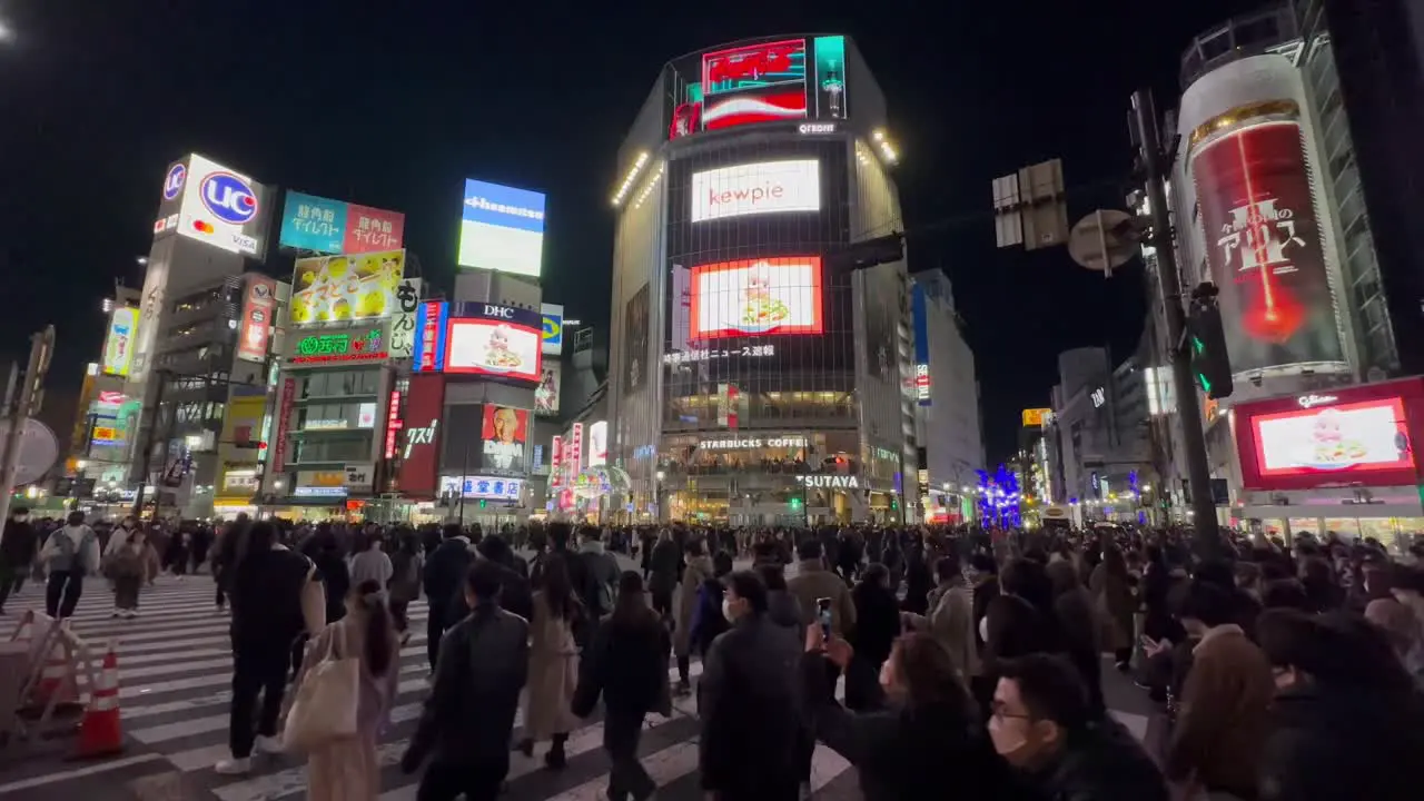
[{"label": "person in black jacket walking just right of the cream tote bag", "polygon": [[[450,543],[454,537],[447,539]],[[400,758],[420,780],[422,801],[494,801],[510,771],[510,737],[528,678],[530,624],[500,607],[500,566],[483,560],[467,573],[466,600],[474,609],[444,633],[434,684],[416,734]]]}]

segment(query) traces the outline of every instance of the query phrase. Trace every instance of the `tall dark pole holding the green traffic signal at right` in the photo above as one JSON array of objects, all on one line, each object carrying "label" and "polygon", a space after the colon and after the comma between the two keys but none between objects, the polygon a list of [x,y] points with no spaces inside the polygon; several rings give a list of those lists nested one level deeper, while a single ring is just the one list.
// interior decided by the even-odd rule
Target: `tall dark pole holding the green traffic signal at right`
[{"label": "tall dark pole holding the green traffic signal at right", "polygon": [[1162,147],[1152,93],[1138,90],[1132,94],[1131,121],[1134,140],[1138,143],[1138,157],[1146,177],[1148,202],[1152,207],[1152,235],[1148,241],[1156,249],[1158,278],[1162,281],[1163,311],[1172,351],[1172,386],[1176,391],[1178,420],[1186,446],[1188,489],[1192,496],[1198,553],[1203,557],[1216,557],[1222,553],[1222,532],[1216,522],[1216,503],[1212,500],[1212,475],[1206,463],[1202,409],[1196,403],[1192,355],[1186,348],[1182,278],[1176,268],[1176,242],[1166,205],[1165,174],[1171,165],[1171,155]]}]

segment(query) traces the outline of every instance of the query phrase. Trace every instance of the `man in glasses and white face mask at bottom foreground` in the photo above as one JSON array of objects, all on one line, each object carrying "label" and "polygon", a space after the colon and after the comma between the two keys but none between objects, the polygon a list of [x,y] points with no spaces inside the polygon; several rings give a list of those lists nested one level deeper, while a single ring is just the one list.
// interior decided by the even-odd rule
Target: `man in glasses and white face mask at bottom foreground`
[{"label": "man in glasses and white face mask at bottom foreground", "polygon": [[1162,772],[1132,734],[1098,715],[1065,657],[998,664],[988,720],[994,750],[1038,798],[1168,801]]}]

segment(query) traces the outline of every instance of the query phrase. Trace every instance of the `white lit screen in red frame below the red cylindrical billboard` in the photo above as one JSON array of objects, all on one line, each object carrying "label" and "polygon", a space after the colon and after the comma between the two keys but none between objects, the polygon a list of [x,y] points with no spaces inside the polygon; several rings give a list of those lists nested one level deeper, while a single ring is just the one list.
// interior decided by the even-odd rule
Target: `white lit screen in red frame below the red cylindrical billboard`
[{"label": "white lit screen in red frame below the red cylindrical billboard", "polygon": [[1387,398],[1252,418],[1260,475],[1354,475],[1414,466],[1404,400]]}]

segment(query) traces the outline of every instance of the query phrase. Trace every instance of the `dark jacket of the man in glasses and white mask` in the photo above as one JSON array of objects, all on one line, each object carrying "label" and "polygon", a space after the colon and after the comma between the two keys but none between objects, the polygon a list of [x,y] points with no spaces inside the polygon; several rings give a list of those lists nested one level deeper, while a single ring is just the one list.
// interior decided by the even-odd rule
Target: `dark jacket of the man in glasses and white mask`
[{"label": "dark jacket of the man in glasses and white mask", "polygon": [[1072,733],[1058,758],[1030,774],[1049,801],[1168,801],[1162,771],[1126,728],[1102,718]]}]

